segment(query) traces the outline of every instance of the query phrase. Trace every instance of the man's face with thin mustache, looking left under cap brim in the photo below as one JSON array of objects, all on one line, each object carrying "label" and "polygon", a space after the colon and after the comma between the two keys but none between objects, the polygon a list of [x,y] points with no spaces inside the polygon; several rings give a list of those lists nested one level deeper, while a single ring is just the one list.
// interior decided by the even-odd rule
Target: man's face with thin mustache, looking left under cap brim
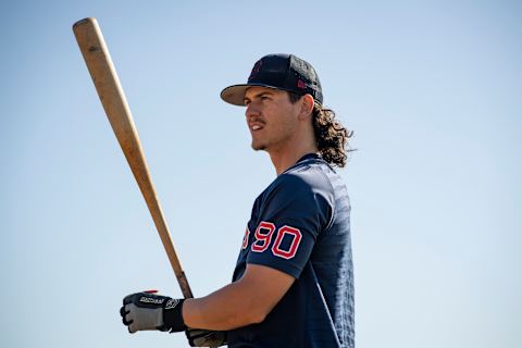
[{"label": "man's face with thin mustache, looking left under cap brim", "polygon": [[284,151],[298,130],[299,103],[283,90],[251,87],[245,94],[245,112],[252,135],[252,149]]}]

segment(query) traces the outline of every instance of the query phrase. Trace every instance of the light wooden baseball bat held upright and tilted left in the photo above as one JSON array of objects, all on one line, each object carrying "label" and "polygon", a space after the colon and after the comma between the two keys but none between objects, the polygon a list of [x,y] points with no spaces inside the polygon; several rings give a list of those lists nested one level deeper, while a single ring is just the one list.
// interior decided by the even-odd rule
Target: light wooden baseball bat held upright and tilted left
[{"label": "light wooden baseball bat held upright and tilted left", "polygon": [[138,133],[134,125],[133,115],[128,108],[125,94],[117,78],[109,49],[96,18],[85,18],[73,25],[85,63],[89,70],[96,90],[100,97],[107,117],[144,195],[152,220],[154,221],[161,241],[165,248],[169,261],[174,270],[179,287],[185,298],[191,298],[192,291],[188,285],[185,272],[177,258],[174,243],[166,226],[163,212],[150,178],[144,151],[139,142]]}]

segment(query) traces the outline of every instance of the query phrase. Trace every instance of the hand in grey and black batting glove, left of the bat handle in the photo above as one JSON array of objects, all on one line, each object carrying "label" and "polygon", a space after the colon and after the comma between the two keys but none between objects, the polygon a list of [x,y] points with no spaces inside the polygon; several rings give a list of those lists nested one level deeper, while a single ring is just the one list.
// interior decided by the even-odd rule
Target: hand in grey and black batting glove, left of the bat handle
[{"label": "hand in grey and black batting glove, left of the bat handle", "polygon": [[146,330],[181,332],[187,328],[182,315],[183,301],[150,293],[132,294],[123,299],[120,314],[130,334]]}]

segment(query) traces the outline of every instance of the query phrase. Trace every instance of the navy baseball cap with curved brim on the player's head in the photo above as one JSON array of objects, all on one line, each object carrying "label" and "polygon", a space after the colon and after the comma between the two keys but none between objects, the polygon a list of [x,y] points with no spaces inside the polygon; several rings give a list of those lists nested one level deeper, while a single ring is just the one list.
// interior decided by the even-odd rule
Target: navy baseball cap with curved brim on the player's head
[{"label": "navy baseball cap with curved brim on the player's head", "polygon": [[261,58],[253,65],[248,82],[226,87],[221,91],[221,99],[244,107],[245,92],[253,86],[282,89],[300,96],[309,94],[318,103],[323,103],[321,83],[315,70],[293,54],[269,54]]}]

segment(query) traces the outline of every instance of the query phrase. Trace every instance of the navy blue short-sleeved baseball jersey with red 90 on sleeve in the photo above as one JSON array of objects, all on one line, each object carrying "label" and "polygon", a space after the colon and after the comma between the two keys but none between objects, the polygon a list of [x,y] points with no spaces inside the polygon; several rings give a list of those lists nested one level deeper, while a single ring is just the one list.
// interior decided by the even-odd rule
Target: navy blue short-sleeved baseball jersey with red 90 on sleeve
[{"label": "navy blue short-sleeved baseball jersey with red 90 on sleeve", "polygon": [[233,281],[247,263],[296,281],[262,323],[229,331],[229,347],[355,346],[350,203],[340,177],[316,154],[256,199]]}]

